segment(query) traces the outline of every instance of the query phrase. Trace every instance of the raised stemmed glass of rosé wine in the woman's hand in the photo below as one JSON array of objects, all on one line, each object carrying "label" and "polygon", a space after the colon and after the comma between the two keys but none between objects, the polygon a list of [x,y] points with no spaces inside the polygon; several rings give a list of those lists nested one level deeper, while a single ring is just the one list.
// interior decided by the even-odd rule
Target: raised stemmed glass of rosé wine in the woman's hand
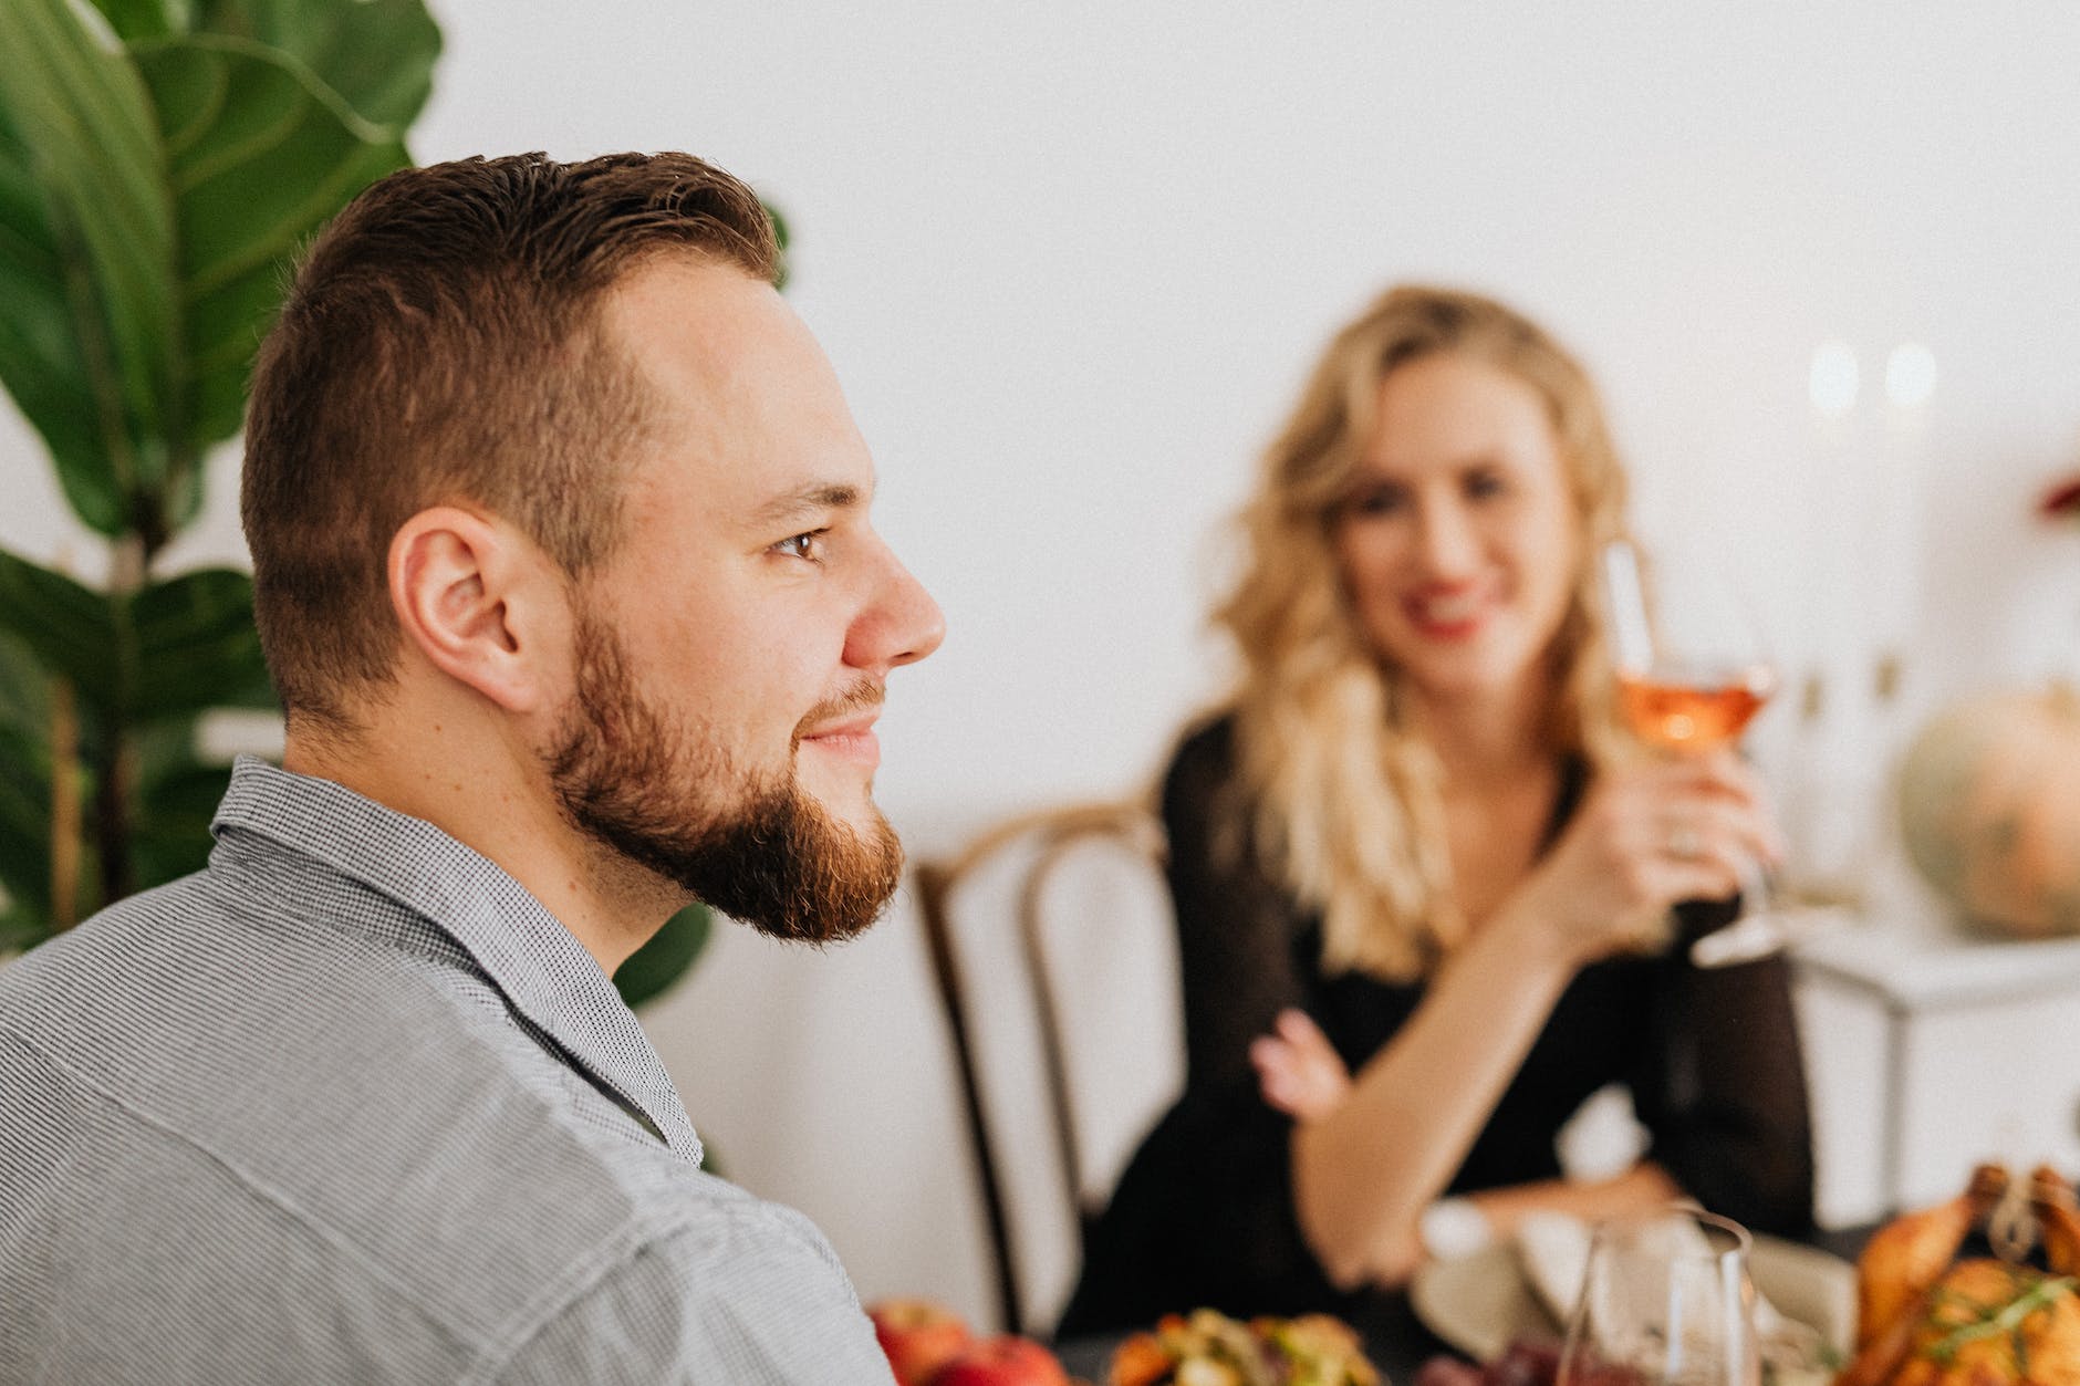
[{"label": "raised stemmed glass of ros\u00e9 wine in the woman's hand", "polygon": [[[1618,712],[1627,726],[1674,755],[1735,745],[1776,691],[1776,666],[1733,579],[1704,556],[1676,554],[1654,564],[1649,591],[1633,543],[1604,545],[1602,560]],[[1766,957],[1789,936],[1785,914],[1770,905],[1762,864],[1747,859],[1739,914],[1691,941],[1689,955],[1699,968],[1724,968]]]}]

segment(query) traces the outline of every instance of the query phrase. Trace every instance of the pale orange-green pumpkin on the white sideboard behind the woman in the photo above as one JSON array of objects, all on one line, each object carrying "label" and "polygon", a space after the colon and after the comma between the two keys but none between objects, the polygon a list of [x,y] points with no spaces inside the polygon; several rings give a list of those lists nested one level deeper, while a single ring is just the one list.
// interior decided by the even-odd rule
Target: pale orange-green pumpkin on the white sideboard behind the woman
[{"label": "pale orange-green pumpkin on the white sideboard behind the woman", "polygon": [[2080,695],[1991,693],[1939,716],[1901,762],[1899,828],[1978,924],[2080,934]]}]

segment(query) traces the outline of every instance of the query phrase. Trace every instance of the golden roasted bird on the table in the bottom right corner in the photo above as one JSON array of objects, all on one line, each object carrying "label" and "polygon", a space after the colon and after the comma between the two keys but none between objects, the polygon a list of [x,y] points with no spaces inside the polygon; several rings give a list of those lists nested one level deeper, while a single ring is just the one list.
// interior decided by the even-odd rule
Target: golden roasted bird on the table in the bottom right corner
[{"label": "golden roasted bird on the table in the bottom right corner", "polygon": [[[2016,1255],[1957,1261],[1980,1222]],[[2003,1242],[2022,1230],[2045,1269]],[[2080,1384],[2080,1211],[2051,1167],[2028,1184],[1980,1165],[1949,1203],[1897,1217],[1855,1263],[1855,1359],[1837,1386]]]}]

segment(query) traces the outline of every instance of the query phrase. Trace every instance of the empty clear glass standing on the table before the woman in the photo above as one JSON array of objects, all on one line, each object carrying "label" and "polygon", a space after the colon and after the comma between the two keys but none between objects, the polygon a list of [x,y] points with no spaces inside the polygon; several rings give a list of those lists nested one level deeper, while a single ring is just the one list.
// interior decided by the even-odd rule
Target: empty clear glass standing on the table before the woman
[{"label": "empty clear glass standing on the table before the woman", "polygon": [[1689,1207],[1597,1226],[1558,1386],[1760,1386],[1747,1253]]}]

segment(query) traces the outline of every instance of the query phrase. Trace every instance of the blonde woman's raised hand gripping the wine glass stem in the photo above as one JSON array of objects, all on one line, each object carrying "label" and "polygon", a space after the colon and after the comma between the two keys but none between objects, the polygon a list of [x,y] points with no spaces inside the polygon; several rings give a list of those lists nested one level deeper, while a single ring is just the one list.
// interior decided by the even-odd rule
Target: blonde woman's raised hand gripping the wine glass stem
[{"label": "blonde woman's raised hand gripping the wine glass stem", "polygon": [[1668,907],[1726,899],[1783,855],[1762,785],[1733,751],[1606,772],[1512,901],[1570,966],[1662,943]]}]

